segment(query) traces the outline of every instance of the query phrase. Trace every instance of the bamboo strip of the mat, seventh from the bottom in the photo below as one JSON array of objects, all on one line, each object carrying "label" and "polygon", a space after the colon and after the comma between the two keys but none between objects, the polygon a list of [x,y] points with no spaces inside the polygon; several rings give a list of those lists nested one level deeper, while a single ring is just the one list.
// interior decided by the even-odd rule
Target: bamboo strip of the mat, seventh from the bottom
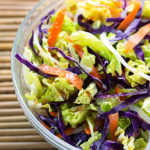
[{"label": "bamboo strip of the mat, seventh from the bottom", "polygon": [[17,101],[0,102],[0,109],[1,108],[20,108],[20,105]]}]

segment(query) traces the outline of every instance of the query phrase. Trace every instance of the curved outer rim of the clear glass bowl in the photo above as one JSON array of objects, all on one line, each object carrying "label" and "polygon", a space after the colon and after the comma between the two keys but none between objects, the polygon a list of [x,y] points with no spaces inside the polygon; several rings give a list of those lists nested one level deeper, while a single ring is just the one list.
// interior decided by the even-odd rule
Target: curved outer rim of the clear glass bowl
[{"label": "curved outer rim of the clear glass bowl", "polygon": [[[25,113],[25,115],[27,116],[27,119],[30,121],[30,123],[34,126],[34,128],[36,128],[36,130],[46,139],[46,141],[50,144],[52,144],[53,146],[55,146],[58,149],[61,150],[79,150],[75,147],[73,147],[72,145],[66,143],[65,141],[59,139],[58,137],[56,137],[55,135],[53,135],[51,132],[49,132],[39,121],[38,119],[33,115],[33,113],[29,110],[29,108],[27,107],[26,103],[24,102],[24,99],[22,97],[22,95],[20,94],[20,89],[18,87],[18,83],[17,83],[17,75],[16,75],[16,66],[15,66],[15,62],[17,61],[15,58],[15,54],[18,53],[19,51],[17,51],[17,40],[19,35],[22,33],[22,29],[25,26],[25,23],[27,22],[27,20],[29,19],[29,17],[32,15],[32,13],[46,0],[41,0],[40,2],[37,3],[37,5],[28,13],[28,15],[25,17],[24,21],[22,22],[22,24],[20,25],[14,43],[13,43],[13,47],[12,47],[12,52],[11,52],[11,72],[12,72],[12,80],[14,83],[14,87],[15,87],[15,92],[17,95],[17,99]],[[59,1],[59,0],[56,0]]]}]

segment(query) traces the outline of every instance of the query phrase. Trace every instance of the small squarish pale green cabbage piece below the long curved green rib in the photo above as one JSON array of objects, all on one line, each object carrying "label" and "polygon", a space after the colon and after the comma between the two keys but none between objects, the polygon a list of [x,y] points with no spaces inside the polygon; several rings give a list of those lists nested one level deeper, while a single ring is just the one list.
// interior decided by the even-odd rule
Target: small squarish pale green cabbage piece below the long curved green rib
[{"label": "small squarish pale green cabbage piece below the long curved green rib", "polygon": [[90,73],[95,64],[95,56],[88,53],[87,48],[84,48],[83,50],[84,50],[84,54],[80,61],[80,65],[83,67],[84,70]]}]

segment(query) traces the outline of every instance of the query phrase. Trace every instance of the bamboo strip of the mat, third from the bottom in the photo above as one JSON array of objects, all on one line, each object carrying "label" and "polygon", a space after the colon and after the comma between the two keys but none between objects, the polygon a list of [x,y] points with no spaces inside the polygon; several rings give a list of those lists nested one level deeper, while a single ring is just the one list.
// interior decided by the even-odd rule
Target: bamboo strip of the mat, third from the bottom
[{"label": "bamboo strip of the mat, third from the bottom", "polygon": [[38,135],[35,129],[0,129],[1,136]]}]

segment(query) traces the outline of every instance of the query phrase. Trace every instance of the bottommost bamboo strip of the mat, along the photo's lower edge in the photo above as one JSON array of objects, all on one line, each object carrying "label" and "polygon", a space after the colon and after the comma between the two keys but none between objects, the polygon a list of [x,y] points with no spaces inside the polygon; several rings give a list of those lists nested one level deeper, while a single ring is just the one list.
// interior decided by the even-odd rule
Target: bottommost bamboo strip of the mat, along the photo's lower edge
[{"label": "bottommost bamboo strip of the mat, along the photo's lower edge", "polygon": [[[44,148],[52,148],[50,144],[47,142],[1,142],[0,147],[3,149],[35,149],[35,150],[40,150]],[[49,149],[50,150],[50,149]],[[54,148],[53,148],[54,150]]]}]

